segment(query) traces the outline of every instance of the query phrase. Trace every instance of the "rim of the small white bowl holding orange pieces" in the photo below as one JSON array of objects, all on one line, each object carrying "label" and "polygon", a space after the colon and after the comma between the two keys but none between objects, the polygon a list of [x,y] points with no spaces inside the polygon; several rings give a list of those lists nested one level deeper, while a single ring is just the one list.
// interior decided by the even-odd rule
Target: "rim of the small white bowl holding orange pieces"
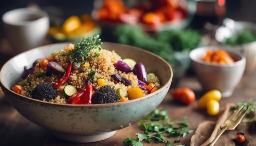
[{"label": "rim of the small white bowl holding orange pieces", "polygon": [[[192,57],[192,54],[200,49],[204,49],[204,50],[220,50],[220,49],[223,49],[227,52],[232,52],[233,54],[236,54],[237,56],[240,56],[241,59],[232,63],[232,64],[213,64],[213,63],[209,63],[209,62],[205,62],[205,61],[202,61],[200,59],[194,59],[194,57]],[[199,48],[196,48],[196,49],[193,49],[192,51],[190,51],[189,53],[189,58],[198,63],[198,64],[203,64],[203,65],[208,65],[208,66],[212,66],[212,67],[221,67],[221,68],[227,68],[227,67],[235,67],[235,66],[239,66],[241,64],[244,64],[245,63],[245,57],[242,53],[240,52],[237,52],[236,50],[232,50],[230,49],[229,47],[226,47],[226,46],[204,46],[204,47],[199,47]]]}]

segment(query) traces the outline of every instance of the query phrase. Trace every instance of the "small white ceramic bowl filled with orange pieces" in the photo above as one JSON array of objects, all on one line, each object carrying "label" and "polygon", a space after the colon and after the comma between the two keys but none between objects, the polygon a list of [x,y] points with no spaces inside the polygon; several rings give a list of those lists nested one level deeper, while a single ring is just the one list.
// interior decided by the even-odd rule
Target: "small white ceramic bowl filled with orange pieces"
[{"label": "small white ceramic bowl filled with orange pieces", "polygon": [[[226,50],[235,63],[219,65],[200,60],[208,50],[217,49]],[[222,93],[222,97],[232,95],[245,69],[246,60],[241,53],[231,51],[223,46],[206,46],[192,50],[189,56],[197,78],[205,91],[217,89]]]}]

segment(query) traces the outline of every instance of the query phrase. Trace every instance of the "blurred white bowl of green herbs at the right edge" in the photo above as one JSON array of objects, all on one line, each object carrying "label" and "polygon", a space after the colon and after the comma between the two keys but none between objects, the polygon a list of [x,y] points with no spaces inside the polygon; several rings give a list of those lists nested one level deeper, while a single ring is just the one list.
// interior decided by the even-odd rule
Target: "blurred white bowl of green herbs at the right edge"
[{"label": "blurred white bowl of green herbs at the right edge", "polygon": [[236,51],[240,51],[246,58],[245,72],[251,72],[256,68],[256,41],[251,43],[246,43],[242,45],[227,45],[225,40],[234,35],[234,33],[239,32],[243,29],[249,29],[254,34],[256,34],[256,24],[245,21],[233,21],[229,18],[224,19],[223,23],[226,26],[221,26],[216,30],[215,38],[226,48],[230,48]]}]

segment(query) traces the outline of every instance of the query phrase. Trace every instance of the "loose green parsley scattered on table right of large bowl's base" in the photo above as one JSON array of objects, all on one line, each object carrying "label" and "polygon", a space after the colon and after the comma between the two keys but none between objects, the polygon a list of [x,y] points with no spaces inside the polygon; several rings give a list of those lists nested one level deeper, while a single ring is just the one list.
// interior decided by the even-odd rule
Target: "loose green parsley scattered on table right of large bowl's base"
[{"label": "loose green parsley scattered on table right of large bowl's base", "polygon": [[[123,144],[126,146],[143,146],[143,140],[146,140],[148,143],[154,140],[156,143],[163,143],[166,146],[174,146],[171,144],[170,141],[164,140],[163,134],[168,133],[169,137],[184,137],[188,133],[193,132],[194,130],[190,130],[187,128],[187,126],[189,125],[187,119],[187,117],[184,117],[184,119],[180,121],[168,118],[168,113],[166,110],[159,110],[156,108],[154,109],[152,114],[140,121],[141,127],[144,130],[144,134],[136,133],[138,138],[126,138],[123,141]],[[180,142],[180,140],[175,140],[174,143],[178,142]]]}]

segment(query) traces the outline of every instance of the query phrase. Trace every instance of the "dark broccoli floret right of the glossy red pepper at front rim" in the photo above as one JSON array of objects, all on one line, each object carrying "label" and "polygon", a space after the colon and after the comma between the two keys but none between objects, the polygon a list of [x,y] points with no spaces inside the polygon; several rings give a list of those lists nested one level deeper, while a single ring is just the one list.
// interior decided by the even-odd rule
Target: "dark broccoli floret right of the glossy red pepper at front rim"
[{"label": "dark broccoli floret right of the glossy red pepper at front rim", "polygon": [[112,103],[117,102],[118,99],[119,96],[117,95],[115,89],[112,89],[110,86],[103,86],[96,90],[93,94],[92,103]]}]

